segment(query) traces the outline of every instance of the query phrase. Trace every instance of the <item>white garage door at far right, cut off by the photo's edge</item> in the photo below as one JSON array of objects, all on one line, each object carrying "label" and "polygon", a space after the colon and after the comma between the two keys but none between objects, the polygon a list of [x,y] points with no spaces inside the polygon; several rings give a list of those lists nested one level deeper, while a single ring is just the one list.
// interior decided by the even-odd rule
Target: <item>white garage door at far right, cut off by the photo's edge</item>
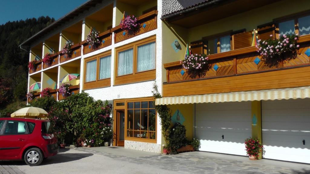
[{"label": "white garage door at far right, cut off by the photo's edge", "polygon": [[264,158],[310,163],[310,99],[262,101],[262,133]]}]

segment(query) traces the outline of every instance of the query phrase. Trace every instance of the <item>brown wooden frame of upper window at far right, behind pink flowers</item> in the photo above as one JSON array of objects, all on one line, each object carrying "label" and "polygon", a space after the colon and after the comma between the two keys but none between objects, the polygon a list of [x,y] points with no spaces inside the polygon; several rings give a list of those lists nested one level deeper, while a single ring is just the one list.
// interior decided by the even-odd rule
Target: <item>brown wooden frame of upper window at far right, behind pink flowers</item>
[{"label": "brown wooden frame of upper window at far right, behind pink flowers", "polygon": [[[307,11],[303,11],[303,12],[299,12],[299,13],[295,13],[292,15],[287,15],[287,16],[283,16],[280,18],[276,18],[273,20],[273,22],[275,23],[275,34],[276,34],[276,38],[279,38],[279,23],[281,22],[286,22],[289,20],[294,20],[294,29],[295,29],[295,34],[299,34],[299,24],[298,24],[298,18],[304,17],[304,16],[309,16],[310,15],[310,10]],[[307,34],[309,35],[309,34]]]}]

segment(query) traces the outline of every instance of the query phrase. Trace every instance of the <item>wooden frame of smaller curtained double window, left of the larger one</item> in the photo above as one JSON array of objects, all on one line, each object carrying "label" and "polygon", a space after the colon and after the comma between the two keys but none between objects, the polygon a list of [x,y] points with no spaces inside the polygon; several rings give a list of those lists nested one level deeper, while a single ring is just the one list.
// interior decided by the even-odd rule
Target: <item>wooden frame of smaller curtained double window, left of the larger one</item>
[{"label": "wooden frame of smaller curtained double window, left of the larger one", "polygon": [[[86,90],[86,89],[96,89],[96,88],[103,88],[103,87],[111,86],[111,75],[110,75],[109,78],[99,79],[100,58],[108,56],[108,55],[111,55],[111,50],[84,59],[83,90]],[[97,62],[96,62],[97,63],[96,64],[96,68],[97,68],[96,69],[96,79],[94,81],[86,82],[86,71],[87,71],[86,63],[90,62],[90,61],[93,61],[93,60],[97,60]],[[112,63],[111,63],[111,65],[112,65]]]}]

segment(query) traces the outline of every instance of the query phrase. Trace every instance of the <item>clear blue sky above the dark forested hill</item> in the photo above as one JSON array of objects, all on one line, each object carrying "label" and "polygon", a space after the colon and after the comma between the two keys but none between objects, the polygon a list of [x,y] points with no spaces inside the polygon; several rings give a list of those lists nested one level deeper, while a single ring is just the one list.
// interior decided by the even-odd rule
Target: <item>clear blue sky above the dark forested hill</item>
[{"label": "clear blue sky above the dark forested hill", "polygon": [[87,0],[0,0],[0,25],[8,21],[54,17],[55,20],[69,13]]}]

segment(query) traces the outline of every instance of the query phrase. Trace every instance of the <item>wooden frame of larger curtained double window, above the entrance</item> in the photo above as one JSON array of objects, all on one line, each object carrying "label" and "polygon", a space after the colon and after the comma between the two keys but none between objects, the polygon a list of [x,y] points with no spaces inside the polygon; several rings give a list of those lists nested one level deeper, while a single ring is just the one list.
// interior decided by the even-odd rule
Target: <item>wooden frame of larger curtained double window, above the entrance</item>
[{"label": "wooden frame of larger curtained double window, above the entrance", "polygon": [[[151,42],[155,42],[155,50],[156,50],[156,36],[148,37],[146,39],[136,41],[130,44],[127,44],[125,46],[121,46],[115,49],[115,61],[114,61],[114,85],[123,85],[123,84],[129,84],[129,83],[136,83],[136,82],[142,82],[142,81],[148,81],[148,80],[155,80],[156,78],[156,52],[155,52],[155,68],[146,70],[146,71],[141,71],[137,72],[137,60],[138,60],[138,46],[148,44]],[[118,53],[128,50],[128,49],[133,49],[132,54],[133,54],[133,61],[132,61],[132,73],[131,74],[126,74],[126,75],[121,75],[117,76],[118,73]]]}]

